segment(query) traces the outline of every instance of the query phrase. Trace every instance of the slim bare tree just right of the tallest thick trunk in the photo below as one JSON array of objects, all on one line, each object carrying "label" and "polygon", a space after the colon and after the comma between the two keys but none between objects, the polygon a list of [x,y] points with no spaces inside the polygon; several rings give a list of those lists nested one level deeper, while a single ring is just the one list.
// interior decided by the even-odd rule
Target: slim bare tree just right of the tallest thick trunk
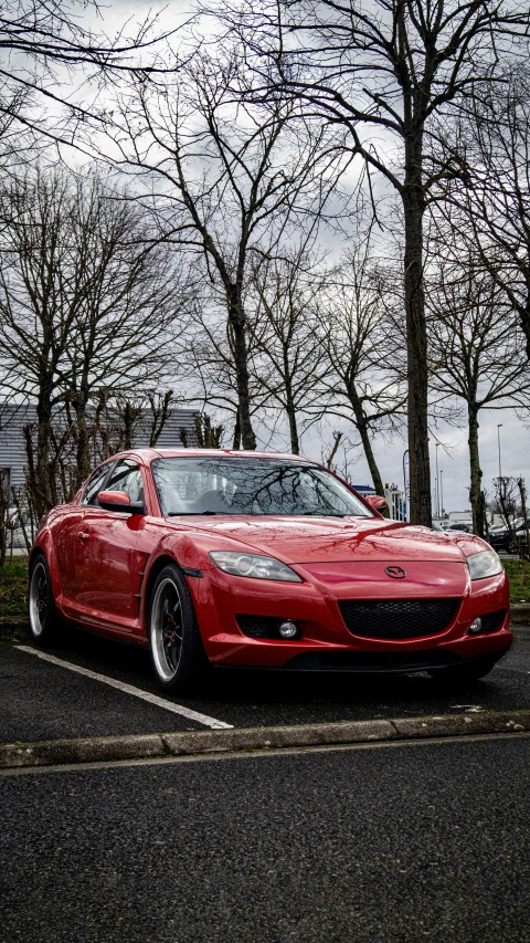
[{"label": "slim bare tree just right of the tallest thick trunk", "polygon": [[438,402],[456,397],[465,404],[473,524],[475,533],[485,536],[478,419],[483,409],[527,401],[530,369],[523,335],[499,286],[465,251],[438,268],[428,311],[432,387]]}]

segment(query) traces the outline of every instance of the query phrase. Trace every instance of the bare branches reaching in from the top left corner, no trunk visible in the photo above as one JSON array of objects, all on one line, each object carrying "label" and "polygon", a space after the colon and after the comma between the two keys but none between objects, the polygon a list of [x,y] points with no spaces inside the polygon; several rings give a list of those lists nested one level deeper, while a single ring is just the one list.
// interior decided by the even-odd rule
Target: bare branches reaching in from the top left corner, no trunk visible
[{"label": "bare branches reaching in from the top left corner, no trunk visible", "polygon": [[[104,35],[97,0],[4,0],[0,15],[0,143],[9,164],[36,138],[73,143],[76,128],[88,115],[86,85],[91,77],[130,69],[157,69],[152,53],[161,35],[153,34],[156,18],[148,14],[134,35],[125,29]],[[92,14],[92,25],[89,18]],[[87,21],[88,17],[88,21]],[[99,21],[99,22],[98,22]],[[149,53],[142,62],[141,53]],[[72,95],[74,76],[85,83],[83,98]],[[67,86],[67,88],[65,87]],[[46,121],[47,108],[60,108],[66,121]],[[12,139],[12,136],[15,139]]]}]

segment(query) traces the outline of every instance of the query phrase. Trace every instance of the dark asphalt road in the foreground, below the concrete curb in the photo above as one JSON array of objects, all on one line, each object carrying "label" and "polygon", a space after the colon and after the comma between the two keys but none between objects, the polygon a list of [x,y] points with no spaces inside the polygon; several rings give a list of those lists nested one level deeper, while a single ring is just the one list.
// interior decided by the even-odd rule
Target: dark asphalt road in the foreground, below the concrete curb
[{"label": "dark asphalt road in the foreground, below the concrete curb", "polygon": [[528,943],[530,738],[0,778],[1,943]]}]

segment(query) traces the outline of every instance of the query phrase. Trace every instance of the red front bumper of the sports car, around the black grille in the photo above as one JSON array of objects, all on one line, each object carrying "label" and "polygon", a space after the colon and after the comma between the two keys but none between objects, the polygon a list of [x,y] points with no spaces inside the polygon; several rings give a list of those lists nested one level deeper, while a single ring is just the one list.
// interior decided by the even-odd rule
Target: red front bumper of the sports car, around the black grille
[{"label": "red front bumper of the sports car, around the black grille", "polygon": [[[466,567],[467,570],[467,567]],[[301,572],[301,568],[300,568]],[[204,579],[189,580],[201,636],[210,661],[218,666],[275,668],[296,671],[356,671],[409,673],[460,664],[477,659],[499,659],[511,645],[506,575],[471,584],[423,587],[381,586],[364,581],[357,587],[364,599],[400,594],[405,598],[454,596],[462,598],[456,615],[443,631],[406,640],[365,638],[348,630],[339,600],[352,598],[351,584],[326,585],[304,574],[300,584],[231,577],[208,570]],[[406,596],[409,593],[409,597]],[[388,598],[388,597],[386,597]],[[494,631],[473,635],[477,616],[504,610]],[[295,640],[250,638],[239,627],[237,616],[266,616],[295,621],[301,637]]]}]

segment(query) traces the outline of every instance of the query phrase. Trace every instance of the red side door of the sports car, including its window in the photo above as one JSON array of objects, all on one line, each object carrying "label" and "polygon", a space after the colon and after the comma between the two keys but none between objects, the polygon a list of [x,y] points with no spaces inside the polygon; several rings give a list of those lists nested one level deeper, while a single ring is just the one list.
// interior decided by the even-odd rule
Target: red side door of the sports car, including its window
[{"label": "red side door of the sports car, including its window", "polygon": [[[144,501],[142,470],[134,459],[116,462],[106,491],[125,491],[131,503]],[[136,548],[142,515],[87,505],[77,532],[75,569],[82,618],[131,631],[138,616]]]}]

